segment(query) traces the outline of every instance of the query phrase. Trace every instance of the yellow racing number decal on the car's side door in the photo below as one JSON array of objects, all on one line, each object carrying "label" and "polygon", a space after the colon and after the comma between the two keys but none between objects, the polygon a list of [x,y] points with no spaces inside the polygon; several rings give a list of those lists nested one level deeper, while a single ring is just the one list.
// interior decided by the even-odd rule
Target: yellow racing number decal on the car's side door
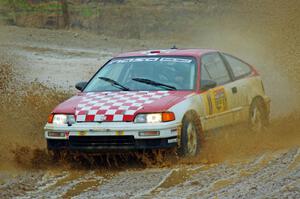
[{"label": "yellow racing number decal on the car's side door", "polygon": [[208,115],[224,112],[228,109],[224,87],[211,89],[206,94]]}]

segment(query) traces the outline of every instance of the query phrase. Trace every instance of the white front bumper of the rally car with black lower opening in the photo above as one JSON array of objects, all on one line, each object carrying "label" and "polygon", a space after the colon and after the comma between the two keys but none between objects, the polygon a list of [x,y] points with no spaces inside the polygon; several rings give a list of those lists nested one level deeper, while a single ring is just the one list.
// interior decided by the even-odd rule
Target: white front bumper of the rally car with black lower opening
[{"label": "white front bumper of the rally car with black lower opening", "polygon": [[[142,136],[141,132],[155,131],[159,135]],[[63,132],[63,137],[49,136],[50,132]],[[180,124],[136,124],[128,122],[76,123],[72,126],[45,126],[49,150],[105,151],[143,150],[176,147]]]}]

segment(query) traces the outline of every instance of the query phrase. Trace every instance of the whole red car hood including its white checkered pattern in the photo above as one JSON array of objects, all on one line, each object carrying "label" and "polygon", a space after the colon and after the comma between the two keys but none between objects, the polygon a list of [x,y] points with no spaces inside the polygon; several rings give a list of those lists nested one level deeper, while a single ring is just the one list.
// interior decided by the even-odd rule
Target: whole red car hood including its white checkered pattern
[{"label": "whole red car hood including its white checkered pattern", "polygon": [[131,122],[138,113],[164,112],[191,91],[118,91],[80,93],[54,113],[75,114],[77,122]]}]

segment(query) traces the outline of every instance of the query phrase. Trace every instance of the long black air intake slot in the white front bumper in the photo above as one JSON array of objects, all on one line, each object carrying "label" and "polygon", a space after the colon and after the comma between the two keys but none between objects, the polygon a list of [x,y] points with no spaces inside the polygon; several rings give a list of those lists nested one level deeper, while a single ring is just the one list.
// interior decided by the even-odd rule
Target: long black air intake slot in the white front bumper
[{"label": "long black air intake slot in the white front bumper", "polygon": [[134,136],[70,136],[72,146],[131,146]]}]

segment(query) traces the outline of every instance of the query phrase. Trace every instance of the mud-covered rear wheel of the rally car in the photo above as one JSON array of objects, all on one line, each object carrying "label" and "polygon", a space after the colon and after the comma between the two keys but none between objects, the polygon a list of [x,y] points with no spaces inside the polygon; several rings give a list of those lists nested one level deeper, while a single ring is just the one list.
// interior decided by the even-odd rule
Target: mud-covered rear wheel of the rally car
[{"label": "mud-covered rear wheel of the rally car", "polygon": [[262,99],[255,98],[249,110],[249,128],[253,132],[261,132],[269,124],[269,116],[265,110],[265,104]]}]

